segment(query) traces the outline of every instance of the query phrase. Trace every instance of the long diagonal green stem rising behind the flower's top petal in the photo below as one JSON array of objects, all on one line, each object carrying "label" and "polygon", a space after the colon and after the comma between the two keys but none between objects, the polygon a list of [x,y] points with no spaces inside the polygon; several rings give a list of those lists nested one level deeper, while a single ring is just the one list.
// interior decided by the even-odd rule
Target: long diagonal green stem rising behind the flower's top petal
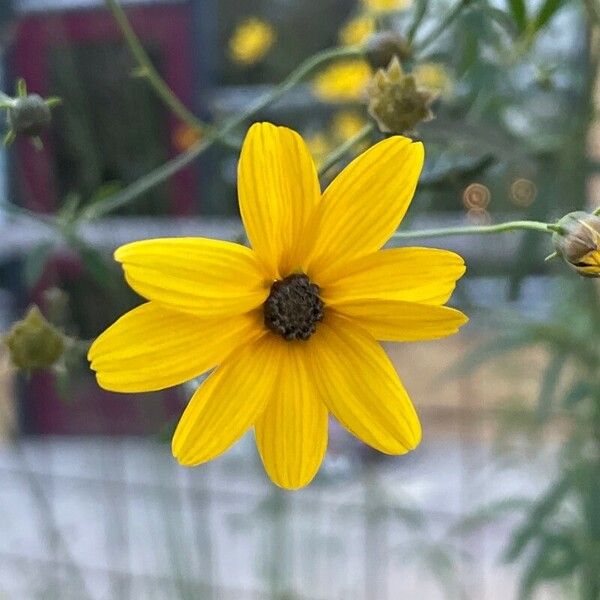
[{"label": "long diagonal green stem rising behind the flower's top petal", "polygon": [[121,190],[121,192],[110,198],[107,198],[102,203],[90,207],[90,209],[83,212],[83,218],[98,218],[111,213],[114,210],[122,208],[123,206],[126,206],[138,196],[141,196],[148,190],[159,185],[189,165],[198,156],[206,152],[206,150],[208,150],[215,142],[222,139],[227,139],[229,134],[237,127],[242,125],[244,121],[251,118],[257,112],[263,110],[276,100],[279,100],[279,98],[290,91],[294,86],[318,71],[321,67],[323,67],[323,65],[341,58],[360,56],[361,53],[362,50],[360,47],[341,46],[337,48],[331,48],[329,50],[323,50],[322,52],[311,56],[296,70],[294,70],[286,79],[275,86],[272,91],[259,98],[246,111],[227,120],[220,128],[209,130],[203,139],[199,142],[196,142],[196,144],[194,144],[191,148],[161,165],[154,171],[151,171],[147,175],[141,177],[131,185],[127,186],[125,189]]}]

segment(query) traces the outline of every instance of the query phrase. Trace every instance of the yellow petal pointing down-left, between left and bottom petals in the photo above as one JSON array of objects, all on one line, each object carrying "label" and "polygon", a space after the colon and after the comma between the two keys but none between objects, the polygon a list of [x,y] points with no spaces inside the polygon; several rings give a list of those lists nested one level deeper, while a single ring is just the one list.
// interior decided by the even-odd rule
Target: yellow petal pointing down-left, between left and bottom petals
[{"label": "yellow petal pointing down-left, between left and bottom petals", "polygon": [[198,388],[175,435],[173,456],[186,466],[211,460],[244,435],[273,398],[280,340],[264,335],[232,353]]}]

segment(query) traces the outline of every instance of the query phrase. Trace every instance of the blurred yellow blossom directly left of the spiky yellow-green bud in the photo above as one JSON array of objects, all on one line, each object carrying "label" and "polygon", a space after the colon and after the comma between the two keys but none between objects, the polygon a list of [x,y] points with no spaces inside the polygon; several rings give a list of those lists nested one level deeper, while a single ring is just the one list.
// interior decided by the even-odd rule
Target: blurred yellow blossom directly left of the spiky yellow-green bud
[{"label": "blurred yellow blossom directly left of the spiky yellow-green bud", "polygon": [[317,98],[327,102],[360,100],[370,78],[371,67],[364,60],[344,60],[319,73],[313,90]]}]

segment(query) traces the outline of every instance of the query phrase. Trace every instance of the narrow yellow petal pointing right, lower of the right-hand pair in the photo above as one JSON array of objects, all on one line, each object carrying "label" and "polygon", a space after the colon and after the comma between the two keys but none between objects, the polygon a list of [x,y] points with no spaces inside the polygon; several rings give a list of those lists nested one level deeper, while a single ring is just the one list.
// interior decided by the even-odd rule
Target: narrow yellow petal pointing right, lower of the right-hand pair
[{"label": "narrow yellow petal pointing right, lower of the right-hand pair", "polygon": [[402,300],[349,300],[330,309],[364,327],[376,340],[414,342],[456,333],[469,319],[459,310]]}]

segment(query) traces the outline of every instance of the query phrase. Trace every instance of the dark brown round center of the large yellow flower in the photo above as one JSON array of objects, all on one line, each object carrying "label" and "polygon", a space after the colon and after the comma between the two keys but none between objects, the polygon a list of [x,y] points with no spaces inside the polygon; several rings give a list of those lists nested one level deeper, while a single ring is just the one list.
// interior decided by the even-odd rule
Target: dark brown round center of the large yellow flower
[{"label": "dark brown round center of the large yellow flower", "polygon": [[289,275],[271,286],[265,325],[286,340],[307,340],[323,320],[323,306],[318,285],[304,273]]}]

